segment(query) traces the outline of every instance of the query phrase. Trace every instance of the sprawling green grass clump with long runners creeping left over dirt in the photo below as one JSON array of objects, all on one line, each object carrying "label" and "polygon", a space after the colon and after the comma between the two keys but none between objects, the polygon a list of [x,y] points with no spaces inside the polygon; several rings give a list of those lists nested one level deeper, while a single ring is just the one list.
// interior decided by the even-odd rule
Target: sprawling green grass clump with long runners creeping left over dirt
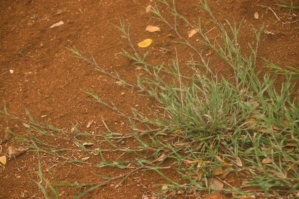
[{"label": "sprawling green grass clump with long runners creeping left over dirt", "polygon": [[[128,176],[140,170],[154,170],[167,180],[167,184],[159,185],[167,186],[167,188],[157,192],[157,195],[162,198],[168,198],[178,190],[185,189],[206,192],[219,190],[213,183],[210,183],[211,179],[218,179],[225,184],[222,189],[224,192],[239,196],[289,195],[295,197],[299,188],[299,99],[298,96],[292,98],[295,87],[291,84],[293,76],[290,74],[285,73],[286,81],[278,91],[273,83],[273,76],[266,74],[261,79],[255,72],[263,26],[259,30],[254,29],[256,46],[250,46],[251,53],[245,56],[241,46],[237,45],[240,25],[226,21],[228,28],[225,28],[215,19],[206,1],[202,2],[199,7],[210,15],[210,21],[217,26],[222,38],[219,43],[213,44],[203,33],[200,18],[198,25],[194,26],[187,18],[179,14],[174,1],[168,3],[166,0],[155,0],[154,3],[155,6],[150,9],[152,17],[173,29],[180,38],[176,41],[177,45],[185,45],[194,50],[200,64],[190,63],[193,71],[190,77],[181,74],[177,54],[176,59],[172,60],[170,65],[150,64],[147,61],[150,52],[144,55],[138,52],[130,38],[129,27],[124,21],[116,27],[124,34],[133,53],[124,49],[121,54],[135,61],[136,66],[147,72],[150,78],[138,76],[136,83],[129,84],[118,74],[111,75],[106,72],[93,57],[87,59],[75,48],[68,48],[75,54],[75,57],[94,64],[99,72],[116,79],[119,85],[137,89],[140,95],[153,98],[160,108],[160,113],[153,113],[156,115],[154,118],[148,118],[134,108],[132,108],[133,116],[129,116],[122,113],[113,103],[102,101],[98,95],[86,92],[94,101],[110,107],[129,119],[133,133],[126,135],[112,132],[103,121],[107,128],[107,132],[103,132],[103,139],[114,147],[114,151],[122,151],[122,155],[135,154],[136,159],[120,162],[118,157],[115,161],[109,162],[103,157],[101,149],[86,150],[82,145],[83,141],[76,137],[80,135],[88,138],[93,135],[80,133],[77,128],[74,128],[76,131],[72,132],[74,138],[71,141],[81,146],[80,151],[101,156],[101,163],[90,164],[90,166],[128,169],[130,165],[129,168],[134,168],[119,177],[103,177],[107,181],[91,187],[75,198],[79,199],[88,192],[116,179],[123,179],[121,181],[123,183]],[[165,19],[159,11],[159,6],[166,6],[170,10],[174,23]],[[177,27],[178,20],[196,29],[201,36],[202,44],[212,49],[223,62],[232,68],[232,79],[227,80],[211,70],[209,60],[204,58],[201,50],[180,35]],[[280,69],[274,64],[271,66],[277,70]],[[201,72],[199,68],[204,68],[204,72]],[[165,76],[167,78],[164,78]],[[140,123],[144,124],[143,127],[139,127]],[[47,133],[43,129],[61,130],[50,125],[45,125],[41,129],[33,119],[31,119],[30,127],[45,136],[66,139]],[[30,136],[31,140],[20,136],[18,139],[26,141],[32,149],[38,152],[61,157],[59,155],[61,150],[74,150],[59,149],[41,142],[32,133]],[[136,139],[139,146],[129,149],[114,144],[127,138]],[[50,147],[52,150],[46,151],[38,147],[39,145]],[[147,151],[145,154],[150,155],[144,155],[141,153],[143,151]],[[171,161],[167,161],[167,166],[162,166],[162,163],[166,164],[166,159]],[[86,164],[79,160],[66,160],[68,161],[64,163]],[[237,175],[243,174],[247,178],[243,178],[243,184],[236,187],[216,175],[217,168],[234,172]],[[175,169],[181,175],[183,183],[168,178],[163,173],[165,169]],[[42,189],[40,185],[39,187]],[[251,188],[250,191],[248,191],[249,188]],[[44,190],[42,189],[45,193]]]}]

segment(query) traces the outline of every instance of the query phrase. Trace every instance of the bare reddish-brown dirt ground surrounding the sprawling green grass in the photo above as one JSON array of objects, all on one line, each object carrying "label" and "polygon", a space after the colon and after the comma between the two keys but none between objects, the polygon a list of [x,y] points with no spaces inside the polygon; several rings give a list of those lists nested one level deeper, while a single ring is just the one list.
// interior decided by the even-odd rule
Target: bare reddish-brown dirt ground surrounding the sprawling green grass
[{"label": "bare reddish-brown dirt ground surrounding the sprawling green grass", "polygon": [[[245,52],[249,50],[247,43],[253,43],[255,36],[251,24],[259,28],[265,22],[265,30],[261,37],[259,57],[266,58],[281,67],[293,66],[299,68],[299,10],[288,11],[275,5],[279,0],[208,0],[215,17],[221,21],[243,21],[240,32],[240,45]],[[181,63],[189,61],[192,52],[185,47],[171,42],[169,33],[175,34],[169,27],[160,21],[149,17],[143,6],[149,0],[0,0],[0,98],[5,100],[7,111],[10,114],[28,120],[25,108],[39,122],[50,123],[59,128],[69,129],[71,123],[77,124],[82,131],[94,131],[99,134],[105,130],[102,118],[112,131],[128,133],[129,124],[123,117],[117,115],[108,107],[88,101],[88,95],[82,91],[92,90],[101,100],[112,100],[117,107],[132,114],[130,107],[147,114],[147,109],[154,108],[154,101],[140,97],[123,87],[111,84],[115,82],[94,70],[94,66],[83,60],[70,57],[71,53],[64,48],[74,45],[80,52],[92,53],[99,65],[111,73],[117,72],[120,76],[133,82],[135,76],[141,73],[128,59],[116,55],[121,48],[128,49],[123,41],[122,34],[111,24],[119,24],[120,19],[131,25],[132,41],[134,44],[152,38],[154,43],[149,47],[149,59],[153,63],[170,61],[175,58],[174,47],[178,50]],[[152,2],[151,2],[152,3]],[[177,10],[196,24],[197,17],[203,12],[194,4],[198,0],[176,0]],[[299,0],[293,0],[299,4]],[[278,21],[274,13],[259,5],[271,7],[281,18]],[[167,10],[164,10],[165,12]],[[254,13],[259,12],[260,18],[255,19]],[[167,15],[167,14],[166,14]],[[167,17],[170,19],[170,15]],[[204,16],[203,16],[204,17]],[[206,16],[208,17],[208,16]],[[64,24],[49,28],[58,21]],[[149,33],[145,31],[147,25],[156,25],[161,32]],[[179,31],[186,36],[189,29],[183,23],[178,24]],[[203,29],[207,32],[213,25],[207,21]],[[271,33],[273,34],[271,34]],[[208,33],[210,38],[218,35],[216,28]],[[178,38],[176,38],[178,39]],[[189,40],[199,46],[200,39],[194,35]],[[137,45],[136,45],[137,46]],[[163,53],[160,48],[170,52]],[[144,52],[144,49],[138,49]],[[213,56],[210,55],[210,56]],[[198,59],[195,57],[195,59]],[[212,65],[217,69],[221,63],[212,58]],[[266,72],[262,59],[258,60],[258,69]],[[13,70],[11,74],[9,70]],[[184,69],[182,69],[184,70]],[[185,69],[188,70],[188,69]],[[183,71],[187,72],[187,71]],[[221,73],[229,76],[231,71],[224,68]],[[277,86],[282,79],[277,79]],[[122,95],[122,93],[125,93]],[[137,106],[138,105],[138,106]],[[46,115],[45,117],[41,117]],[[89,120],[94,120],[90,128],[86,128]],[[1,117],[1,137],[4,128],[9,126],[17,134],[24,134],[22,122],[15,119]],[[71,138],[65,135],[66,138]],[[71,147],[72,142],[59,141],[60,146]],[[134,146],[133,140],[124,143]],[[7,143],[0,143],[4,154]],[[111,148],[107,143],[102,148]],[[120,153],[105,153],[113,159]],[[78,155],[78,154],[69,154]],[[130,156],[123,157],[132,158]],[[117,168],[98,168],[86,165],[73,164],[57,165],[53,157],[43,155],[41,166],[45,177],[52,180],[61,180],[77,183],[98,183],[103,179],[94,174],[103,176],[119,176],[125,173]],[[100,158],[91,158],[93,164],[99,163]],[[34,152],[26,152],[16,159],[10,159],[5,167],[0,167],[0,198],[1,199],[31,199],[43,198],[42,192],[32,181],[39,181],[38,158]],[[179,180],[175,171],[165,171],[171,179]],[[230,174],[228,182],[232,184],[242,178],[237,174]],[[138,172],[130,176],[120,187],[114,187],[112,182],[105,187],[98,188],[84,199],[142,199],[149,198],[160,189],[156,184],[167,183],[165,179],[153,171]],[[82,191],[82,190],[81,190]],[[80,191],[80,192],[81,192]],[[77,195],[76,189],[60,189],[61,198],[72,199]],[[198,197],[205,197],[206,193],[198,193]],[[195,198],[176,195],[172,198]]]}]

